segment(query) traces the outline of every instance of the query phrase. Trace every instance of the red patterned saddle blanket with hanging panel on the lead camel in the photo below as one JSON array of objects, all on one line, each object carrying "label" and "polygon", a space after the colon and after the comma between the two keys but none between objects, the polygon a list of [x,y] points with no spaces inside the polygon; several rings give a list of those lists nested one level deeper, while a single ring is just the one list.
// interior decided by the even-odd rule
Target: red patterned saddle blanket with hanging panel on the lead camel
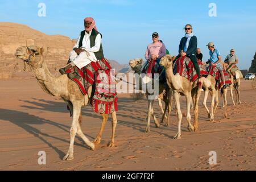
[{"label": "red patterned saddle blanket with hanging panel on the lead camel", "polygon": [[72,78],[79,86],[82,94],[86,95],[90,86],[95,84],[92,90],[91,105],[93,111],[101,114],[110,114],[117,111],[117,92],[115,91],[115,73],[109,61],[102,59],[96,63],[92,62],[84,68],[74,67],[72,71],[81,77]]}]

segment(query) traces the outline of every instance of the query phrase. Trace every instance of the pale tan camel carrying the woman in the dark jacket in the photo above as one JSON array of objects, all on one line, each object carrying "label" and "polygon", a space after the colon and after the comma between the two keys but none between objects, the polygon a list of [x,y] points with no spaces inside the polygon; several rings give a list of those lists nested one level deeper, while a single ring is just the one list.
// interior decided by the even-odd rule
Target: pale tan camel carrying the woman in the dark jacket
[{"label": "pale tan camel carrying the woman in the dark jacket", "polygon": [[[182,113],[180,110],[180,101],[179,101],[179,93],[184,95],[187,100],[187,122],[188,122],[188,130],[196,131],[198,128],[198,102],[200,97],[201,89],[197,89],[197,81],[191,82],[187,78],[182,77],[179,73],[174,75],[173,72],[173,61],[176,56],[166,55],[163,56],[160,60],[160,65],[162,65],[166,69],[166,78],[168,86],[173,90],[173,96],[175,100],[175,105],[177,109],[177,118],[179,121],[178,132],[175,135],[174,139],[181,138],[181,119]],[[194,123],[191,125],[191,115],[190,115],[190,106],[191,106],[191,97],[195,100],[194,106]]]}]

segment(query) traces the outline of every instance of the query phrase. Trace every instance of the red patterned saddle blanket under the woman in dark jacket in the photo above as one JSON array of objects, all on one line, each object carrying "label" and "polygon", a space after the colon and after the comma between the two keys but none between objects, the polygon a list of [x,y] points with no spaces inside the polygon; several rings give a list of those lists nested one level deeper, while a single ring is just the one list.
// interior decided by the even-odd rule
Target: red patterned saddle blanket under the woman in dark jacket
[{"label": "red patterned saddle blanket under the woman in dark jacket", "polygon": [[[200,68],[201,77],[207,75],[207,71],[205,70],[205,66],[201,61],[197,61]],[[174,63],[174,75],[179,73],[180,76],[187,78],[189,81],[194,82],[197,79],[196,69],[194,65],[187,56],[179,57]]]}]

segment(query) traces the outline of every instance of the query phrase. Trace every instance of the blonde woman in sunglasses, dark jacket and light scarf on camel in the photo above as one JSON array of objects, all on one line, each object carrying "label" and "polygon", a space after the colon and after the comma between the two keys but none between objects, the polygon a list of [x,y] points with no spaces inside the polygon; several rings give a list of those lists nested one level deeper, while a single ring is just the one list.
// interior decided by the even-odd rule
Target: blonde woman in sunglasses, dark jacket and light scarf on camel
[{"label": "blonde woman in sunglasses, dark jacket and light scarf on camel", "polygon": [[187,56],[191,59],[198,76],[198,88],[202,88],[202,83],[200,79],[200,68],[197,63],[196,49],[197,49],[197,38],[193,35],[193,28],[191,24],[186,24],[185,26],[185,36],[181,38],[179,45],[179,55],[176,57],[178,59],[180,56]]}]

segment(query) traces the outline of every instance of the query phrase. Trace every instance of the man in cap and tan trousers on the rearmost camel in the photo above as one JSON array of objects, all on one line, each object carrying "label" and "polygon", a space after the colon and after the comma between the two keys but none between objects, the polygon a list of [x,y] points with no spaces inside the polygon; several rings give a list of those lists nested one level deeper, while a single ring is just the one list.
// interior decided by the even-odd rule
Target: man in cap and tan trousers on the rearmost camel
[{"label": "man in cap and tan trousers on the rearmost camel", "polygon": [[238,70],[236,64],[238,64],[238,57],[235,55],[235,50],[231,49],[223,64],[225,71],[230,71],[233,76],[236,76],[236,71]]}]

